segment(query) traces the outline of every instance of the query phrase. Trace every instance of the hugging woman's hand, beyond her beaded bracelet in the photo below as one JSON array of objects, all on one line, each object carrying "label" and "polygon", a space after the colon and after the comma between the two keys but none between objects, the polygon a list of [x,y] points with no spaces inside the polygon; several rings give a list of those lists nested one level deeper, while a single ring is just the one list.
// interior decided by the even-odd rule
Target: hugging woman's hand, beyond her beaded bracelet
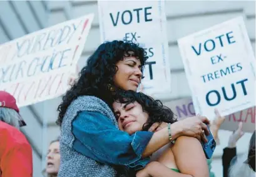
[{"label": "hugging woman's hand, beyond her beaded bracelet", "polygon": [[207,138],[205,136],[210,134],[207,124],[210,124],[209,119],[203,116],[194,116],[191,118],[183,119],[181,121],[177,121],[173,123],[173,126],[180,127],[180,136],[190,136],[195,137],[199,141],[207,142]]}]

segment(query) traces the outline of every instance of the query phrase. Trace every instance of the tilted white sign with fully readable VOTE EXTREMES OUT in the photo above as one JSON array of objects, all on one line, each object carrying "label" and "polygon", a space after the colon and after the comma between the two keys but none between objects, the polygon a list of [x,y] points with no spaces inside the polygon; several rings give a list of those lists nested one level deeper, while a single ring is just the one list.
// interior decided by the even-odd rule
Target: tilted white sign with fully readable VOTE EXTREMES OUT
[{"label": "tilted white sign with fully readable VOTE EXTREMES OUT", "polygon": [[195,113],[214,117],[255,106],[255,57],[238,17],[178,40]]}]

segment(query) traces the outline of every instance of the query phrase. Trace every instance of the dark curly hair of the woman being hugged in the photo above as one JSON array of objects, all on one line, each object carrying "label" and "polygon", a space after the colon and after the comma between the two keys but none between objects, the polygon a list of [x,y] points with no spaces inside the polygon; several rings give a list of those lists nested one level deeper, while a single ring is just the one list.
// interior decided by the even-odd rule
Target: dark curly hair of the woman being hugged
[{"label": "dark curly hair of the woman being hugged", "polygon": [[135,91],[118,91],[115,94],[115,101],[118,103],[134,103],[135,101],[141,105],[143,111],[148,113],[148,120],[143,124],[143,131],[148,131],[153,123],[175,123],[177,116],[173,111],[164,106],[160,100],[155,100],[144,93],[136,93]]}]

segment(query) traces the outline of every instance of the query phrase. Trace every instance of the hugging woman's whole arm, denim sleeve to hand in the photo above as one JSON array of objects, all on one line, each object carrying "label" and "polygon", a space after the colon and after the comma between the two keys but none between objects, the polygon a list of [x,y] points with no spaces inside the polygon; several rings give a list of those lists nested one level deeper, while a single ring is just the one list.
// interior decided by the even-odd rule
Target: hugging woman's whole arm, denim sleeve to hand
[{"label": "hugging woman's whole arm, denim sleeve to hand", "polygon": [[[185,123],[182,121],[173,123],[171,125],[173,139],[180,136],[180,133],[188,134],[188,136],[200,135],[203,127],[200,126],[202,121],[208,120],[203,117],[194,117],[186,120]],[[207,126],[205,128],[207,132]],[[191,129],[193,131],[190,131]],[[170,142],[167,128],[156,133],[138,131],[130,136],[117,129],[110,118],[97,112],[87,111],[79,113],[74,119],[73,134],[77,139],[74,142],[74,149],[81,154],[101,163],[122,164],[131,168],[137,166],[135,163],[141,158],[150,156]],[[140,161],[141,167],[143,168],[148,162],[149,159]]]}]

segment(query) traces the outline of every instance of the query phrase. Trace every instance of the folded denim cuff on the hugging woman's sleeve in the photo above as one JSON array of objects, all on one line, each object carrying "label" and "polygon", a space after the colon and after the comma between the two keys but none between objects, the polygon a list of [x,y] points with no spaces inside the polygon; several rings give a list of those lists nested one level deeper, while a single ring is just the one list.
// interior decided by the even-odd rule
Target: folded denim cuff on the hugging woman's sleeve
[{"label": "folded denim cuff on the hugging woman's sleeve", "polygon": [[152,136],[153,132],[150,131],[137,131],[134,134],[131,146],[139,158],[141,158],[141,154],[145,150]]}]

